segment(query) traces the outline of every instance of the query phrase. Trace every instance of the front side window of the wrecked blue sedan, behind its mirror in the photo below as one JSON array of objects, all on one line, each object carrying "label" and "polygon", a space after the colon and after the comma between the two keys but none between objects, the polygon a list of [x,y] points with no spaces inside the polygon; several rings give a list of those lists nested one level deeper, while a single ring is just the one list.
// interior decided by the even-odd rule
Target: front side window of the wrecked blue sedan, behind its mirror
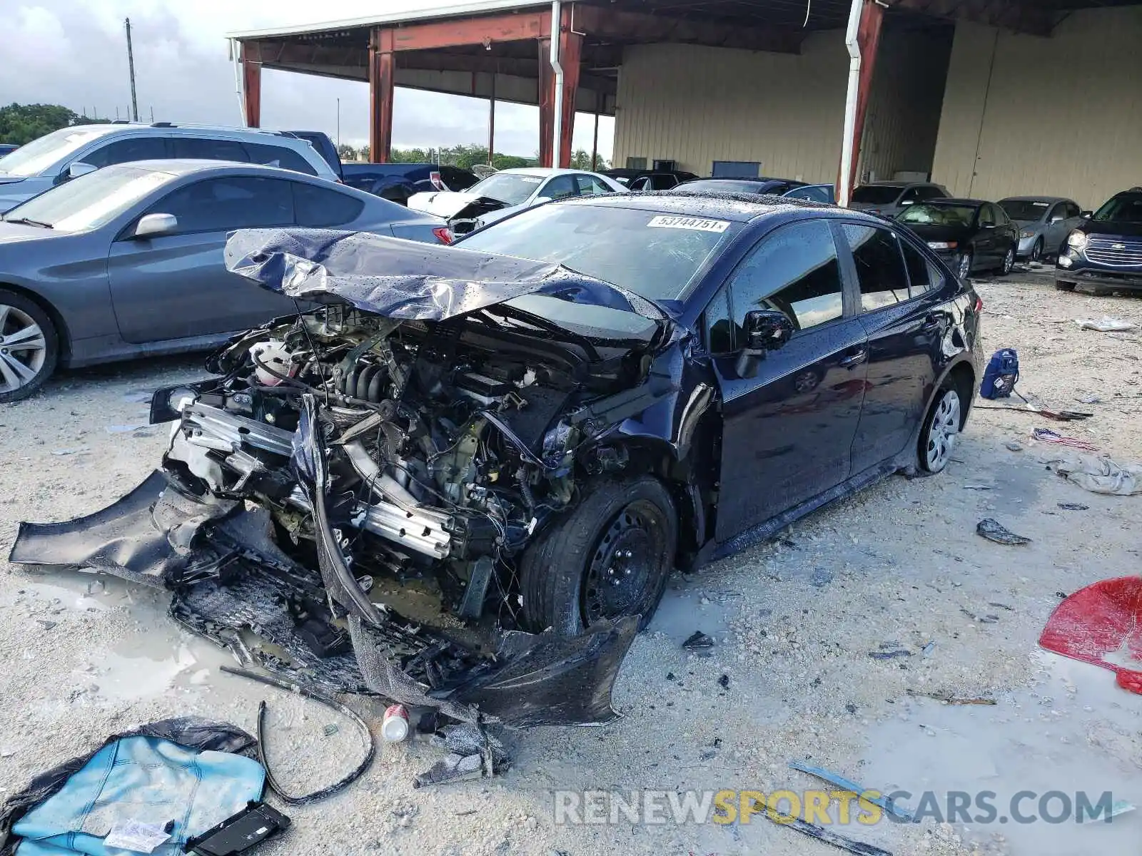
[{"label": "front side window of the wrecked blue sedan, behind its mirror", "polygon": [[730,277],[735,331],[754,309],[777,309],[795,330],[809,330],[844,315],[843,294],[837,247],[825,220],[793,223],[766,235]]}]

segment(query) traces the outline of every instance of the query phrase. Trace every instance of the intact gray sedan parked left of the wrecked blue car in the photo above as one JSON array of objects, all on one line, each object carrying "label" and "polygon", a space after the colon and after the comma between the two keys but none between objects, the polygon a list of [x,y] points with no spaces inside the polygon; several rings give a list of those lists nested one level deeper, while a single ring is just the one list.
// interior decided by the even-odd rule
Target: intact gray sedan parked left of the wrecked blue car
[{"label": "intact gray sedan parked left of the wrecked blue car", "polygon": [[57,364],[209,349],[296,312],[223,265],[227,233],[267,226],[447,235],[436,217],[273,167],[139,161],[81,176],[0,221],[0,402]]}]

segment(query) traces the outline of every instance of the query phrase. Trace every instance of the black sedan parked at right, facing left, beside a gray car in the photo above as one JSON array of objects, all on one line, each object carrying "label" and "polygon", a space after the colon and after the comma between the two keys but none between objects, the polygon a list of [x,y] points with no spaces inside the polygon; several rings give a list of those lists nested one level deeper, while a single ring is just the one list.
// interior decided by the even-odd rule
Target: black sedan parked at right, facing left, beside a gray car
[{"label": "black sedan parked at right, facing left, beside a gray car", "polygon": [[895,219],[926,241],[960,278],[976,270],[1006,276],[1015,266],[1019,227],[994,202],[928,200],[909,205]]}]

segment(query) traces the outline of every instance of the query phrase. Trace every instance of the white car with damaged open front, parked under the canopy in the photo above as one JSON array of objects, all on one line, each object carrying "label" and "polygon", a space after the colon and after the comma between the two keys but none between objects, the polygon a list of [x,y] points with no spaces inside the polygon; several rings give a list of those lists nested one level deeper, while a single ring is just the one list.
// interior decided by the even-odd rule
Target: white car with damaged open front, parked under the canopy
[{"label": "white car with damaged open front, parked under the canopy", "polygon": [[415,211],[443,217],[452,234],[465,235],[524,208],[570,196],[627,193],[612,178],[578,169],[504,169],[466,191],[417,193],[409,197]]}]

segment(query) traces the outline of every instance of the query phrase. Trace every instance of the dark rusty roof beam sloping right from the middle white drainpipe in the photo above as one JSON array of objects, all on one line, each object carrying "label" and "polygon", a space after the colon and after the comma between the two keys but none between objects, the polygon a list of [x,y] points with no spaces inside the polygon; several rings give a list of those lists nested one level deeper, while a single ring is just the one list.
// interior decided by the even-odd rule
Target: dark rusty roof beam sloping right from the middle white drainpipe
[{"label": "dark rusty roof beam sloping right from the middle white drainpipe", "polygon": [[587,35],[633,43],[683,42],[715,48],[799,54],[803,33],[778,29],[735,26],[714,22],[685,21],[613,8],[574,7],[574,29]]}]

